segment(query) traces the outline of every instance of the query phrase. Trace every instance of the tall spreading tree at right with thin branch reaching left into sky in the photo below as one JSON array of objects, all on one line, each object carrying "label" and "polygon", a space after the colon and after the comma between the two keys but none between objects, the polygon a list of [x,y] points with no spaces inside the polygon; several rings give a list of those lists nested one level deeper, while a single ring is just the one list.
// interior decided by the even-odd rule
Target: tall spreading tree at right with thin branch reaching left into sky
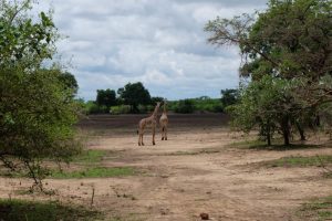
[{"label": "tall spreading tree at right with thin branch reaching left into sky", "polygon": [[[205,30],[211,33],[210,43],[240,48],[243,56],[240,76],[251,81],[249,87],[242,87],[241,94],[246,94],[251,84],[259,83],[266,75],[289,82],[291,86],[280,92],[289,98],[280,103],[280,96],[270,97],[271,104],[290,106],[280,123],[280,133],[288,145],[292,124],[304,138],[301,123],[309,120],[305,118],[308,113],[317,115],[321,105],[332,102],[332,85],[326,83],[332,75],[331,1],[270,0],[268,9],[257,17],[257,20],[248,14],[231,20],[217,18],[208,22]],[[270,81],[270,88],[273,88],[276,81]],[[250,96],[267,93],[263,90],[256,92]],[[284,109],[279,112],[282,114]],[[251,113],[241,110],[237,116],[241,114],[243,118],[251,118]]]}]

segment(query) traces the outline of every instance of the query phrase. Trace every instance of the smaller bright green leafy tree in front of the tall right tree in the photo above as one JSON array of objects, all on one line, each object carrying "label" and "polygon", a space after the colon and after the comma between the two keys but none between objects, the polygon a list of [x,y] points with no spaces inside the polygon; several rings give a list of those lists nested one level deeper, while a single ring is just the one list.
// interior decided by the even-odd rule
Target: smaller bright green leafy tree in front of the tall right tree
[{"label": "smaller bright green leafy tree in front of the tall right tree", "polygon": [[301,109],[300,104],[292,103],[292,84],[269,75],[252,82],[241,92],[239,103],[227,108],[232,115],[232,126],[246,133],[259,126],[268,145],[271,145],[274,131],[289,136],[288,120],[297,117],[294,110]]}]

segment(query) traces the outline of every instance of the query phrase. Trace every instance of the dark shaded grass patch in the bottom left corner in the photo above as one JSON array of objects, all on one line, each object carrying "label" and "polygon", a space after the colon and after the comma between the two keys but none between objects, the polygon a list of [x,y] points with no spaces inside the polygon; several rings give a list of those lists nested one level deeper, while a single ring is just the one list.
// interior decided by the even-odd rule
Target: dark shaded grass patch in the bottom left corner
[{"label": "dark shaded grass patch in the bottom left corner", "polygon": [[35,202],[0,199],[1,221],[71,221],[101,220],[103,215],[83,207],[66,207],[59,202]]}]

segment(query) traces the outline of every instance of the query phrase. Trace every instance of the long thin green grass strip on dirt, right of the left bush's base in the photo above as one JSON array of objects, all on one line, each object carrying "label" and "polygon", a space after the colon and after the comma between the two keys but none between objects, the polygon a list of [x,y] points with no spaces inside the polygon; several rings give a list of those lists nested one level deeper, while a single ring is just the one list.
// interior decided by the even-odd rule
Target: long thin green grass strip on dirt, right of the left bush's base
[{"label": "long thin green grass strip on dirt, right of the left bush's base", "polygon": [[71,179],[71,178],[105,178],[105,177],[124,177],[137,173],[132,167],[92,167],[75,171],[52,171],[49,178]]}]

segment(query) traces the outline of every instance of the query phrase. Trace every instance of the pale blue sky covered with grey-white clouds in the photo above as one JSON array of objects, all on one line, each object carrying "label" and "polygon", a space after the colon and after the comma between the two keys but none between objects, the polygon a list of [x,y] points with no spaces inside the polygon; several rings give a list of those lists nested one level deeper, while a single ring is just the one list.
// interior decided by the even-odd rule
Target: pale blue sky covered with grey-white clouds
[{"label": "pale blue sky covered with grey-white clouds", "polygon": [[217,15],[232,18],[266,8],[268,0],[43,0],[54,9],[59,53],[71,60],[79,96],[142,82],[168,99],[220,97],[238,85],[236,48],[207,44],[203,31]]}]

